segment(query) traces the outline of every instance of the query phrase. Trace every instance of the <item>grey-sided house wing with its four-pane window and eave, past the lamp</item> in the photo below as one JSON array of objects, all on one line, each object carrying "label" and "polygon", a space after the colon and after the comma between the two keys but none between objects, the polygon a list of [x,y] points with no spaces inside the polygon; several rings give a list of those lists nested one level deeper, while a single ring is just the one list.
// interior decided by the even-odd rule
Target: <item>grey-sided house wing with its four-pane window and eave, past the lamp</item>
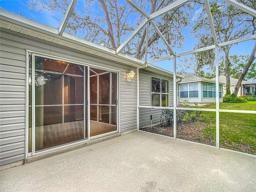
[{"label": "grey-sided house wing with its four-pane window and eave, past the lamp", "polygon": [[[148,67],[139,70],[139,105],[168,107],[173,106],[173,73],[148,64]],[[177,78],[182,78],[178,76]],[[140,128],[152,124],[159,124],[160,109],[140,108]]]}]

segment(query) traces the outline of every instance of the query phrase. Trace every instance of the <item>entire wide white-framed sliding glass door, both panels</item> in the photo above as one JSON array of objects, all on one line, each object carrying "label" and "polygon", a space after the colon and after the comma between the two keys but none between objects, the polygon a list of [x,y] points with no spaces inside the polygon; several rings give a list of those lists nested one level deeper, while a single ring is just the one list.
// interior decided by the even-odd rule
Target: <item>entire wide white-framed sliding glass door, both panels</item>
[{"label": "entire wide white-framed sliding glass door, both panels", "polygon": [[30,155],[117,131],[117,73],[88,69],[65,60],[29,55]]}]

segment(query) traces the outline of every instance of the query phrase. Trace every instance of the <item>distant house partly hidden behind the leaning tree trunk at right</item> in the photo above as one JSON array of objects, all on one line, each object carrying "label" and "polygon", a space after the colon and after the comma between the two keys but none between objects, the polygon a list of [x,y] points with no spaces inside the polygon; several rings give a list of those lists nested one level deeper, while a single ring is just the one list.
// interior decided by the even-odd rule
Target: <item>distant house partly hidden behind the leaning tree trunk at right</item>
[{"label": "distant house partly hidden behind the leaning tree trunk at right", "polygon": [[[212,80],[215,81],[215,78],[212,78]],[[226,76],[224,76],[224,75],[219,76],[219,82],[224,84],[223,85],[223,96],[224,96],[226,94]],[[238,82],[238,79],[230,77],[230,92],[231,92],[231,94],[234,92],[237,82]],[[242,81],[241,86],[238,90],[237,96],[243,96],[244,94],[246,94],[248,92],[248,90],[250,89],[250,86],[248,86],[249,87],[248,89],[246,88],[247,86],[245,86],[248,83],[249,82],[247,82],[247,81]]]}]

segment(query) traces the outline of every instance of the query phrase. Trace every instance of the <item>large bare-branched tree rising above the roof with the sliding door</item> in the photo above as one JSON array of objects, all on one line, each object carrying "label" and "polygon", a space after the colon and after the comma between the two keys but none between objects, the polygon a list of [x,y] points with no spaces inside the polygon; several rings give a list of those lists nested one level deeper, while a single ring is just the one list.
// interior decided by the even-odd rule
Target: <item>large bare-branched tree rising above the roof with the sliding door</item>
[{"label": "large bare-branched tree rising above the roof with the sliding door", "polygon": [[[152,14],[171,4],[174,0],[138,0],[136,4]],[[61,12],[65,14],[68,0],[30,0],[28,7],[38,11],[50,11],[52,14]],[[86,0],[79,2],[81,7],[75,6],[74,11],[66,26],[66,32],[82,36],[84,39],[97,44],[104,44],[108,48],[116,50],[128,35],[144,20],[141,14],[125,1],[118,0]],[[84,3],[84,4],[82,4]],[[188,25],[190,3],[182,8],[177,8],[156,19],[154,22],[172,47],[182,47],[184,36],[182,28]],[[95,14],[97,12],[97,14]],[[145,56],[146,27],[136,35],[126,48],[125,54],[142,59]],[[160,58],[167,49],[158,46],[160,36],[151,26],[148,38],[148,52],[152,58]],[[169,55],[169,54],[168,54]]]}]

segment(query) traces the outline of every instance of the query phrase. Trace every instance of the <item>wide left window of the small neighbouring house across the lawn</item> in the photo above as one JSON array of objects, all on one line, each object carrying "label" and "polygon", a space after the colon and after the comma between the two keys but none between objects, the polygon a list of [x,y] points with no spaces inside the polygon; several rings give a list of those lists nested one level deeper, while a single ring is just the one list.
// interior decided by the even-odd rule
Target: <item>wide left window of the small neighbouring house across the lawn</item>
[{"label": "wide left window of the small neighbouring house across the lawn", "polygon": [[198,98],[198,83],[180,85],[180,98]]}]

